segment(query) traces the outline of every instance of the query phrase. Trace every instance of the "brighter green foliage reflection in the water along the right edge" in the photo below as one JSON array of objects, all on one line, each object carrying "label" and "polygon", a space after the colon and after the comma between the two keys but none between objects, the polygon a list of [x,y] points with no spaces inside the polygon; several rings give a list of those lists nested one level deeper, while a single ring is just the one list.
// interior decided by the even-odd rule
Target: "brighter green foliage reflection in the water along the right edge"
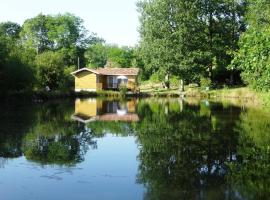
[{"label": "brighter green foliage reflection in the water along the right edge", "polygon": [[230,166],[231,181],[245,199],[269,199],[269,111],[248,109],[243,112],[236,131],[240,136],[239,159]]}]

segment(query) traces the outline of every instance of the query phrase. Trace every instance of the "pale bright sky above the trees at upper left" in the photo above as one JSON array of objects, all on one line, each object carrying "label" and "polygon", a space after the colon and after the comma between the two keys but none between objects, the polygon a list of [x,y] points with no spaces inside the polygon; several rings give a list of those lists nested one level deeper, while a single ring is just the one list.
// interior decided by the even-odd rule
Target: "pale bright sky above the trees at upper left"
[{"label": "pale bright sky above the trees at upper left", "polygon": [[0,22],[23,24],[43,14],[69,12],[84,20],[90,32],[110,44],[134,46],[139,40],[137,0],[0,0]]}]

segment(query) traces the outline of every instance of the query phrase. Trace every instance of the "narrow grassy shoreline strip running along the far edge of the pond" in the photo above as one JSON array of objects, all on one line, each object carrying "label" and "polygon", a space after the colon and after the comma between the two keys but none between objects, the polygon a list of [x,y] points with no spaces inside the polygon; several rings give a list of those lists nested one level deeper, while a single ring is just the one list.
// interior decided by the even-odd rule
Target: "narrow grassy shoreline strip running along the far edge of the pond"
[{"label": "narrow grassy shoreline strip running along the far edge of the pond", "polygon": [[140,93],[127,93],[125,95],[118,91],[97,92],[75,92],[75,91],[20,91],[1,94],[1,101],[31,100],[32,102],[43,102],[64,98],[196,98],[214,101],[238,101],[244,104],[257,106],[270,106],[270,92],[255,92],[247,87],[215,89],[203,91],[200,89],[187,89],[184,92],[174,91],[142,91]]}]

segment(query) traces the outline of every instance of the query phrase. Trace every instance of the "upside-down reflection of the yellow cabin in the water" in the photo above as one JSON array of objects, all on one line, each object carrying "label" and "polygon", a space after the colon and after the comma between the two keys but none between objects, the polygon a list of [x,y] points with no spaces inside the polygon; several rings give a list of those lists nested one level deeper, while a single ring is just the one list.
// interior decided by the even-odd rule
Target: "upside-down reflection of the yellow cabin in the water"
[{"label": "upside-down reflection of the yellow cabin in the water", "polygon": [[74,120],[88,123],[91,121],[130,121],[139,120],[136,114],[136,100],[127,102],[102,101],[99,99],[77,99]]}]

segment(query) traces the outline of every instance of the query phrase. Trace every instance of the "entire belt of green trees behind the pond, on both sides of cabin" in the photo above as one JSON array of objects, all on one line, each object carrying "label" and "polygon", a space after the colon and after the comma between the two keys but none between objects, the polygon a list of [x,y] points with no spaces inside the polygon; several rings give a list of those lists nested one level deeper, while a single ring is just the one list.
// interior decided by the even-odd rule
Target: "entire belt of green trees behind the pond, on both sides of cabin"
[{"label": "entire belt of green trees behind the pond, on both sides of cabin", "polygon": [[140,80],[270,90],[268,0],[141,0],[136,47],[109,45],[72,14],[0,24],[0,92],[70,90],[80,67],[140,67]]}]

